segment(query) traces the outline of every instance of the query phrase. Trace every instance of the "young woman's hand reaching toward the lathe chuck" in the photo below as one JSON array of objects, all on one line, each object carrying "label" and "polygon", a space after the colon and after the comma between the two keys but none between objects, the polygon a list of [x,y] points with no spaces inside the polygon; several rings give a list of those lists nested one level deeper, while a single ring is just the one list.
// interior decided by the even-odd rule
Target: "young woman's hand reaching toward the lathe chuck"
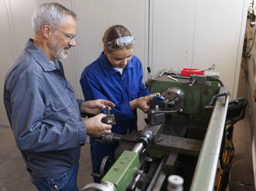
[{"label": "young woman's hand reaching toward the lathe chuck", "polygon": [[152,97],[159,95],[159,93],[154,93],[152,95],[148,95],[145,97],[140,97],[138,99],[134,99],[130,102],[131,109],[142,109],[143,112],[147,112],[149,109],[148,106],[148,99],[151,99]]}]

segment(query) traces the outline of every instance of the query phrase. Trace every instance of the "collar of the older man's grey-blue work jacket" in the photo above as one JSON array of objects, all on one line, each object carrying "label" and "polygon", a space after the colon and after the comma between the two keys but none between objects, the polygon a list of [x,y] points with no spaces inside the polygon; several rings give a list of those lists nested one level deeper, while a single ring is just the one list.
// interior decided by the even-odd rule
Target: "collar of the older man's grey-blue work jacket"
[{"label": "collar of the older man's grey-blue work jacket", "polygon": [[36,62],[41,65],[44,72],[60,69],[59,61],[57,59],[53,61],[56,66],[49,62],[49,59],[46,57],[43,51],[33,43],[33,39],[29,39],[29,41],[26,43],[25,49],[32,55],[34,59],[36,59]]}]

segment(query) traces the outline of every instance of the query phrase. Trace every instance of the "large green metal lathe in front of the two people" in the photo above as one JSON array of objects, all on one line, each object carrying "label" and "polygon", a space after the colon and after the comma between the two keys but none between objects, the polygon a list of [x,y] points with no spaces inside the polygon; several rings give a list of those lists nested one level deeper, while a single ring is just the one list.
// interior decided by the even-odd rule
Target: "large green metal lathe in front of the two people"
[{"label": "large green metal lathe in front of the two people", "polygon": [[90,183],[83,191],[167,190],[170,175],[183,178],[183,190],[216,188],[230,99],[218,72],[182,76],[162,70],[148,80],[148,90],[161,95],[149,101],[147,125],[101,140],[118,144],[114,162],[105,157],[101,183]]}]

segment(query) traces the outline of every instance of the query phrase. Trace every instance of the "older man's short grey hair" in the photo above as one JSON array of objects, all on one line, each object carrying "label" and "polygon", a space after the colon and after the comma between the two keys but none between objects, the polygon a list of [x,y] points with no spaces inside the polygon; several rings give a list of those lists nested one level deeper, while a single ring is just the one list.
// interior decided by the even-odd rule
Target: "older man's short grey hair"
[{"label": "older man's short grey hair", "polygon": [[32,15],[33,31],[39,35],[43,25],[56,28],[62,22],[63,15],[71,15],[75,20],[77,19],[76,13],[59,3],[52,2],[39,5]]}]

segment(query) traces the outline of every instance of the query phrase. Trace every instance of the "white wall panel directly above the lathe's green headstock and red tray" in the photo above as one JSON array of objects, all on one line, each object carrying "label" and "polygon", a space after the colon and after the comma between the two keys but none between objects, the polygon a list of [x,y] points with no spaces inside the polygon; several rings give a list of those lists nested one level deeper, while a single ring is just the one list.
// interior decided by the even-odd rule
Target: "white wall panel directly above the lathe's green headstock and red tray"
[{"label": "white wall panel directly above the lathe's green headstock and red tray", "polygon": [[191,67],[196,0],[152,3],[152,73]]}]

